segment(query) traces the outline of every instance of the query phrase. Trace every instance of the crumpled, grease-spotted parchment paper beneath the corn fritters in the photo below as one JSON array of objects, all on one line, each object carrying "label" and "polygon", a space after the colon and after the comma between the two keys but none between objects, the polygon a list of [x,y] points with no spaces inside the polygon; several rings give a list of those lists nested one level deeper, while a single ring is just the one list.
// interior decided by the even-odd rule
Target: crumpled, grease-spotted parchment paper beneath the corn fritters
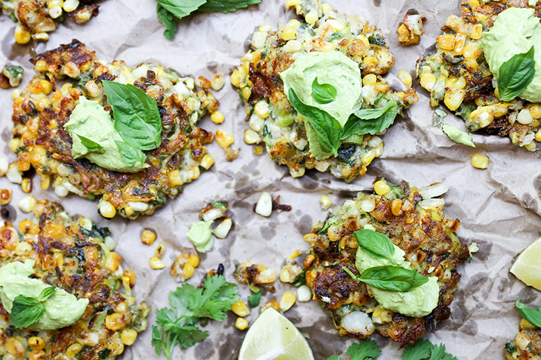
[{"label": "crumpled, grease-spotted parchment paper beneath the corn fritters", "polygon": [[[458,1],[434,0],[333,0],[334,8],[342,13],[363,15],[384,32],[395,53],[396,64],[387,75],[395,89],[403,85],[396,75],[400,69],[415,71],[415,60],[431,51],[435,38],[440,34],[447,16],[459,14]],[[427,35],[418,46],[401,47],[396,40],[396,29],[406,12],[427,15]],[[444,343],[447,350],[458,359],[504,359],[503,347],[517,334],[519,314],[514,308],[515,299],[541,305],[541,294],[526,287],[508,273],[516,255],[540,235],[541,152],[528,152],[511,145],[508,138],[474,134],[475,149],[450,141],[440,129],[431,126],[433,111],[429,108],[427,93],[419,90],[420,102],[413,105],[406,118],[397,119],[395,125],[383,136],[384,154],[370,166],[365,177],[352,183],[335,179],[330,174],[310,171],[300,179],[292,179],[285,166],[278,166],[267,154],[255,156],[253,147],[243,142],[246,113],[228,75],[239,64],[247,50],[247,41],[260,24],[276,28],[295,17],[293,11],[284,9],[284,0],[262,0],[257,6],[237,12],[200,13],[178,22],[178,33],[171,42],[162,36],[164,30],[157,21],[153,0],[109,0],[101,3],[98,17],[78,26],[65,21],[51,34],[49,42],[21,46],[15,44],[15,23],[5,15],[0,17],[0,65],[21,64],[26,73],[20,87],[31,79],[33,71],[28,58],[35,53],[65,44],[72,38],[87,44],[98,57],[107,60],[125,60],[135,66],[141,62],[161,63],[183,75],[204,75],[212,78],[215,73],[226,75],[225,87],[216,92],[221,102],[225,123],[219,128],[234,134],[240,156],[232,163],[225,161],[221,147],[209,145],[215,165],[200,179],[188,184],[182,195],[170,200],[151,217],[136,221],[117,218],[103,219],[96,213],[96,202],[80,199],[76,195],[59,198],[52,190],[42,191],[37,186],[33,195],[37,199],[59,201],[72,215],[81,213],[94,219],[98,226],[108,226],[117,240],[116,251],[122,255],[123,268],[132,269],[137,276],[135,296],[146,300],[153,310],[168,305],[167,295],[177,283],[169,276],[169,269],[151,270],[151,258],[158,242],[166,244],[164,261],[169,265],[180,253],[195,253],[184,235],[189,224],[196,222],[198,212],[209,201],[228,201],[234,228],[225,240],[216,240],[212,251],[201,256],[196,275],[189,280],[197,285],[206,271],[225,265],[227,280],[234,281],[234,264],[250,260],[266,264],[280,272],[284,258],[296,249],[307,250],[302,235],[311,225],[326,216],[320,210],[319,198],[329,195],[333,205],[342,204],[359,190],[372,188],[375,177],[398,182],[406,179],[414,186],[426,186],[445,181],[450,190],[445,195],[445,213],[461,219],[457,235],[467,244],[479,244],[479,252],[470,264],[459,267],[463,278],[454,293],[452,315],[438,323],[438,331],[427,335],[436,343]],[[10,91],[0,90],[0,156],[15,160],[9,150],[11,138],[10,116],[12,100]],[[463,121],[449,115],[449,125],[465,129]],[[201,127],[215,131],[218,125],[205,118]],[[472,154],[487,154],[487,170],[476,170],[470,165]],[[8,206],[10,220],[17,224],[28,215],[17,209],[24,197],[20,187],[0,178],[0,188],[9,188],[13,200]],[[261,191],[273,196],[281,195],[283,204],[293,207],[291,212],[273,213],[264,218],[252,212],[252,205]],[[17,211],[16,211],[17,210]],[[153,246],[141,244],[142,228],[153,228],[157,242]],[[294,290],[290,285],[276,281],[277,292],[266,293],[262,304],[280,300],[284,291]],[[239,286],[246,301],[248,288]],[[258,309],[248,316],[250,323],[257,317]],[[333,354],[345,354],[353,339],[339,337],[332,321],[315,301],[297,303],[286,316],[309,336],[309,343],[316,359],[327,359]],[[214,321],[205,326],[207,340],[188,350],[175,348],[174,359],[237,359],[245,332],[234,328],[234,314],[223,323]],[[148,329],[139,335],[135,345],[126,348],[123,359],[157,359],[151,348],[151,325],[155,311],[148,317]],[[375,334],[383,354],[379,359],[400,359],[397,343]],[[345,356],[347,357],[347,355]],[[162,357],[164,359],[164,357]]]}]

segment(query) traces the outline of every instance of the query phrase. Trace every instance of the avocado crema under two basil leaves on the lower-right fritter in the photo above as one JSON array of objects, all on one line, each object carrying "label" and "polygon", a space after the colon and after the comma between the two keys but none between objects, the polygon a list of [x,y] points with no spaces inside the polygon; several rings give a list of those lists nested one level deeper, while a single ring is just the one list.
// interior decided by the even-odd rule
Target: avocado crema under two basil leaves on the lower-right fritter
[{"label": "avocado crema under two basil leaves on the lower-right fritter", "polygon": [[[393,245],[395,253],[393,255],[393,261],[386,259],[372,258],[368,253],[357,248],[357,255],[355,258],[355,267],[360,273],[363,273],[366,269],[371,267],[380,267],[387,265],[395,265],[404,267],[405,269],[411,269],[411,264],[404,260],[404,251],[398,246]],[[440,296],[440,287],[438,286],[438,278],[431,276],[429,281],[420,287],[415,287],[410,291],[388,291],[381,290],[370,285],[366,285],[370,288],[372,295],[384,309],[398,312],[406,316],[422,317],[427,316],[433,309],[438,306],[438,299]]]}]

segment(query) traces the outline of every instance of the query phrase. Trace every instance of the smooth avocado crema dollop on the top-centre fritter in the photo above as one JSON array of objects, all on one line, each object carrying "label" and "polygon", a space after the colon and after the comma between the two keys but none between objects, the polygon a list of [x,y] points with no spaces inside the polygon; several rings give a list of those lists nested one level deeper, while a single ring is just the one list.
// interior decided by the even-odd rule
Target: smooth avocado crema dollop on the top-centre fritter
[{"label": "smooth avocado crema dollop on the top-centre fritter", "polygon": [[[359,64],[339,51],[307,53],[298,57],[289,69],[280,73],[284,93],[289,98],[293,89],[304,104],[327,111],[342,127],[352,113],[352,107],[361,96],[361,71]],[[330,84],[336,89],[336,98],[319,104],[312,95],[312,83]]]}]

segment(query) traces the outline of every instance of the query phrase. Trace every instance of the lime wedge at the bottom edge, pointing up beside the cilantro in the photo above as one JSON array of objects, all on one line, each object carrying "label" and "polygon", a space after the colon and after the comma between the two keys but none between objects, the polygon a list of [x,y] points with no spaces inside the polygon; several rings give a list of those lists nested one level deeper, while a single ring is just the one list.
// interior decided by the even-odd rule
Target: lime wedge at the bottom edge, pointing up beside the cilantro
[{"label": "lime wedge at the bottom edge, pointing up beside the cilantro", "polygon": [[314,355],[295,325],[269,307],[244,336],[239,360],[314,360]]}]

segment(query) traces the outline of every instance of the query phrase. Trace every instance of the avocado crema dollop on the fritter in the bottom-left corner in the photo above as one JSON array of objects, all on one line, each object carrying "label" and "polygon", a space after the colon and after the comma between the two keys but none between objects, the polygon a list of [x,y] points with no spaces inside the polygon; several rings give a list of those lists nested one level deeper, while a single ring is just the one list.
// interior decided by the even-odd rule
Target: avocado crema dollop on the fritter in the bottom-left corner
[{"label": "avocado crema dollop on the fritter in the bottom-left corner", "polygon": [[[29,278],[35,273],[34,260],[10,262],[0,267],[0,300],[3,308],[11,313],[13,300],[19,295],[37,298],[50,287],[42,280]],[[51,298],[45,300],[45,311],[37,323],[28,326],[35,331],[56,330],[74,324],[83,316],[88,299],[78,299],[62,289],[56,289]]]}]

